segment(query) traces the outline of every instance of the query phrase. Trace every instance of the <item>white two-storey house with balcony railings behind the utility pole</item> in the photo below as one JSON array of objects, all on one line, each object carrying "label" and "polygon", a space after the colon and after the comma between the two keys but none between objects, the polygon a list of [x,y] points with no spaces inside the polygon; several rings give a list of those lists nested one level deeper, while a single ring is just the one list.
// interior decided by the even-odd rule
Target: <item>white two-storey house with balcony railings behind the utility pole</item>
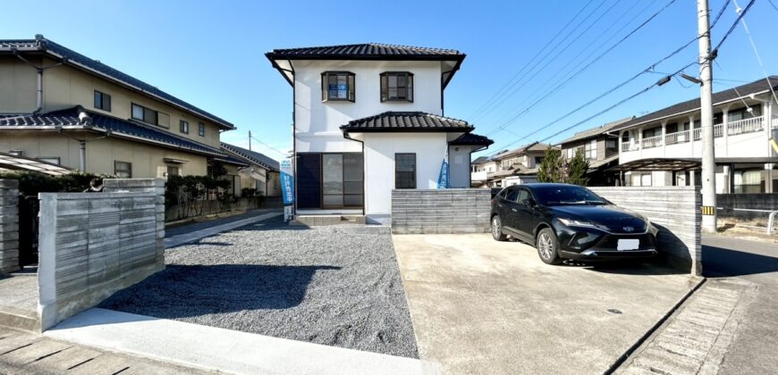
[{"label": "white two-storey house with balcony railings behind the utility pole", "polygon": [[[716,193],[778,192],[774,91],[778,76],[713,95]],[[618,170],[631,186],[700,185],[699,99],[609,130],[621,139]]]}]

